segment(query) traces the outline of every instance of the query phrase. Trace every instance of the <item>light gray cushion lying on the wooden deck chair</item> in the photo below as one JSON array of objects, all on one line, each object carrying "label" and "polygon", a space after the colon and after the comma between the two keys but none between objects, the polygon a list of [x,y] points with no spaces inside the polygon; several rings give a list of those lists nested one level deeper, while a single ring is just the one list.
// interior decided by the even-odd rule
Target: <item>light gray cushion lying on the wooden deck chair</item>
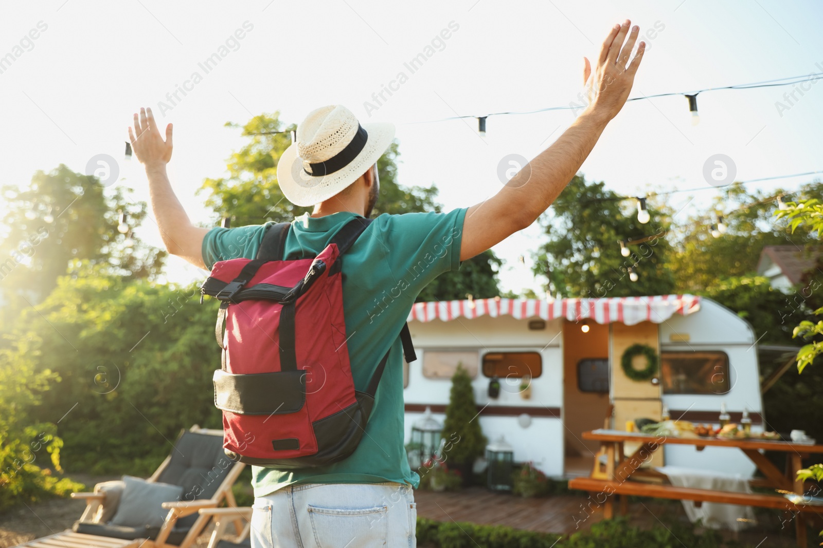
[{"label": "light gray cushion lying on the wooden deck chair", "polygon": [[123,476],[123,482],[126,486],[111,525],[160,527],[169,513],[162,504],[180,500],[183,494],[182,486],[150,482],[139,477]]}]

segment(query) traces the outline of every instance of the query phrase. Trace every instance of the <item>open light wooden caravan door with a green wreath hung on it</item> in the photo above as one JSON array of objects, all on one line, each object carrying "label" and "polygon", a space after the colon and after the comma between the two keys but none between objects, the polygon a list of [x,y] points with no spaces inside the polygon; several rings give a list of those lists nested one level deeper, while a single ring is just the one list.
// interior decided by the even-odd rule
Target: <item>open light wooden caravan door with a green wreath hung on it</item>
[{"label": "open light wooden caravan door with a green wreath hung on it", "polygon": [[[622,366],[623,352],[633,344],[645,344],[654,348],[660,356],[660,336],[658,324],[643,321],[635,325],[621,323],[610,324],[609,337],[609,367],[611,372],[611,403],[614,405],[612,428],[625,430],[627,421],[637,418],[650,418],[659,421],[663,413],[663,389],[658,382],[650,380],[631,380],[625,375]],[[646,366],[646,358],[635,357],[635,367],[642,369]],[[676,418],[676,417],[672,417]],[[634,446],[633,446],[634,445]],[[625,453],[632,454],[637,449],[636,444],[625,444]],[[653,466],[663,466],[663,451],[653,454]]]}]

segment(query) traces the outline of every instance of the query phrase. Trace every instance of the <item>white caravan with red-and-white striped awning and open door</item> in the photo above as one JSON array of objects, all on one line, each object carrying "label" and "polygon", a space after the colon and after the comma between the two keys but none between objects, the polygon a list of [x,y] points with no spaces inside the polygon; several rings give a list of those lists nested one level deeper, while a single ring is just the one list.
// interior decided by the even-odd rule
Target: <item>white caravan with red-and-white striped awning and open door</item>
[{"label": "white caravan with red-and-white striped awning and open door", "polygon": [[[490,442],[504,435],[515,462],[532,461],[550,477],[591,471],[599,445],[581,432],[604,421],[624,430],[635,418],[659,420],[663,406],[672,419],[715,425],[723,404],[732,422],[747,409],[752,431],[763,430],[754,332],[704,297],[419,302],[409,328],[418,359],[404,363],[407,441],[426,408],[444,420],[458,363],[472,376],[478,420]],[[621,357],[634,344],[657,353],[653,379],[625,375]],[[635,363],[642,367],[643,357]],[[490,396],[494,377],[496,398]],[[755,470],[737,449],[668,444],[663,451],[655,465],[744,477]]]}]

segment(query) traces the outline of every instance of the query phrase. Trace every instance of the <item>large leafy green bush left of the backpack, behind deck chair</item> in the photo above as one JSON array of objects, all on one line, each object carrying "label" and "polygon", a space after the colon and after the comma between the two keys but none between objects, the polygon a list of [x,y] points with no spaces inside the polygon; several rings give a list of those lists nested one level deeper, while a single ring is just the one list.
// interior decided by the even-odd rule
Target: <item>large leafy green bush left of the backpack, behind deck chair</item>
[{"label": "large leafy green bush left of the backpack, behind deck chair", "polygon": [[[6,338],[9,367],[51,372],[21,413],[58,424],[63,466],[151,472],[180,428],[219,427],[212,374],[216,307],[196,284],[178,287],[81,268],[21,314]],[[212,344],[208,344],[212,341]]]}]

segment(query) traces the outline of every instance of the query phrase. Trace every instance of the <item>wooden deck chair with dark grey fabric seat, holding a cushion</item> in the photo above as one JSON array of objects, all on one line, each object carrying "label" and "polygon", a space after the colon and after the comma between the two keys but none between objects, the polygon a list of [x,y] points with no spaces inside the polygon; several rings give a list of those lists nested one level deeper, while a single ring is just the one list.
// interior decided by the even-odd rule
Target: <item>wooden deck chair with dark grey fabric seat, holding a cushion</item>
[{"label": "wooden deck chair with dark grey fabric seat, holding a cushion", "polygon": [[[198,514],[199,509],[216,508],[224,500],[230,507],[237,506],[231,486],[244,466],[226,457],[223,431],[192,426],[180,432],[171,454],[147,480],[183,487],[180,500],[163,503],[168,513],[161,527],[109,523],[117,510],[123,482],[107,481],[95,486],[93,493],[72,493],[72,499],[86,500],[86,510],[71,529],[18,548],[188,548],[210,519]],[[243,527],[239,519],[237,527]]]}]

